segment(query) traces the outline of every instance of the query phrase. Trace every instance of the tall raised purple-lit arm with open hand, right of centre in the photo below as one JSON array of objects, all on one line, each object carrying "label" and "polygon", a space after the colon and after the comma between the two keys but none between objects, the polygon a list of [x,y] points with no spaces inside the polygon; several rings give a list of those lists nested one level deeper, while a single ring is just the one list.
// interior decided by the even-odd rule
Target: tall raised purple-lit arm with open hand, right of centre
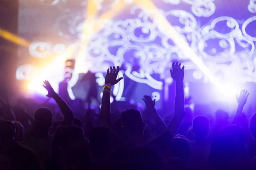
[{"label": "tall raised purple-lit arm with open hand, right of centre", "polygon": [[170,132],[172,139],[174,138],[180,123],[185,116],[185,106],[184,106],[184,89],[183,89],[183,78],[184,78],[184,66],[180,68],[181,64],[178,62],[172,63],[172,78],[176,82],[176,94],[175,94],[175,107],[174,107],[174,116],[167,127],[167,130]]}]

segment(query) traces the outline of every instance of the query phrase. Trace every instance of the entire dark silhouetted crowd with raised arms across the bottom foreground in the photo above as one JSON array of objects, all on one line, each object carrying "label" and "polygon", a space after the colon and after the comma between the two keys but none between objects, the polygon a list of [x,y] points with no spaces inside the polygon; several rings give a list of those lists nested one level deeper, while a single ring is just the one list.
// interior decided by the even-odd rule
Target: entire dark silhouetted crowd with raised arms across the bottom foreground
[{"label": "entire dark silhouetted crowd with raised arms across the bottom foreground", "polygon": [[175,107],[163,120],[150,96],[143,96],[145,116],[130,108],[111,112],[112,88],[123,79],[118,73],[118,66],[108,69],[100,113],[83,110],[85,120],[74,117],[48,81],[43,86],[61,122],[52,121],[52,109],[41,107],[31,116],[1,100],[0,170],[256,170],[256,113],[243,113],[246,90],[237,96],[233,120],[218,110],[210,126],[206,116],[185,108],[184,66],[173,62],[176,94],[169,105]]}]

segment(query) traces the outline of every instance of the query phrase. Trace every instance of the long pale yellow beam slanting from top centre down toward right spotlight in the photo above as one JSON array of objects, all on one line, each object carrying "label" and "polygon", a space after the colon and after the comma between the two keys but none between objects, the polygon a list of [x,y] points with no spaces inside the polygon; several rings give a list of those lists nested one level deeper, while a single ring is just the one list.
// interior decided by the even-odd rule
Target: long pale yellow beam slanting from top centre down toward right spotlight
[{"label": "long pale yellow beam slanting from top centre down toward right spotlight", "polygon": [[[135,3],[142,6],[145,12],[156,9],[156,6],[154,6],[154,4],[150,0],[137,0]],[[204,75],[206,75],[209,80],[214,85],[216,85],[219,90],[221,90],[222,88],[219,85],[216,77],[208,70],[202,60],[198,58],[195,52],[189,47],[188,43],[179,36],[175,28],[172,27],[168,20],[166,20],[166,18],[158,11],[155,11],[154,17],[157,18],[156,20],[154,20],[156,24],[159,26],[163,26],[164,31],[166,32],[166,36],[172,39],[173,42],[175,42],[175,44],[178,46],[178,48],[180,48],[180,50],[182,50],[183,53],[187,57],[189,57],[195,65],[197,65],[197,67],[204,73]]]}]

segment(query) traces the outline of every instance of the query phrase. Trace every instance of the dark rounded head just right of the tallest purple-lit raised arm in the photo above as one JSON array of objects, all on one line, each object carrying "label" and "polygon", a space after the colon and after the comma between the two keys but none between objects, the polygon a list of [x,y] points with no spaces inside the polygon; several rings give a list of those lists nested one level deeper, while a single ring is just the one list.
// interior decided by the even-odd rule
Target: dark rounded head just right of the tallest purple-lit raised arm
[{"label": "dark rounded head just right of the tallest purple-lit raised arm", "polygon": [[205,116],[195,116],[193,120],[195,142],[203,142],[209,133],[209,119]]}]

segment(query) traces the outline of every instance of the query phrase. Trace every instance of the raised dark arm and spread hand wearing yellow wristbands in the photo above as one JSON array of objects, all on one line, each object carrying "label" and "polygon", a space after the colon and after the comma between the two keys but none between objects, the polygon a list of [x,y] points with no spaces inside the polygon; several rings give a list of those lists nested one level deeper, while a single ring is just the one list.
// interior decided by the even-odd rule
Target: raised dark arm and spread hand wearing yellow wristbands
[{"label": "raised dark arm and spread hand wearing yellow wristbands", "polygon": [[[110,67],[107,71],[107,75],[105,77],[105,84],[109,84],[111,86],[117,84],[121,79],[123,78],[117,78],[117,75],[119,73],[119,66],[117,66],[117,69],[115,67]],[[114,130],[113,123],[110,119],[110,95],[111,95],[111,89],[107,88],[103,91],[102,96],[102,105],[100,110],[100,120],[102,122],[102,126],[106,126],[110,128],[112,131]]]}]

